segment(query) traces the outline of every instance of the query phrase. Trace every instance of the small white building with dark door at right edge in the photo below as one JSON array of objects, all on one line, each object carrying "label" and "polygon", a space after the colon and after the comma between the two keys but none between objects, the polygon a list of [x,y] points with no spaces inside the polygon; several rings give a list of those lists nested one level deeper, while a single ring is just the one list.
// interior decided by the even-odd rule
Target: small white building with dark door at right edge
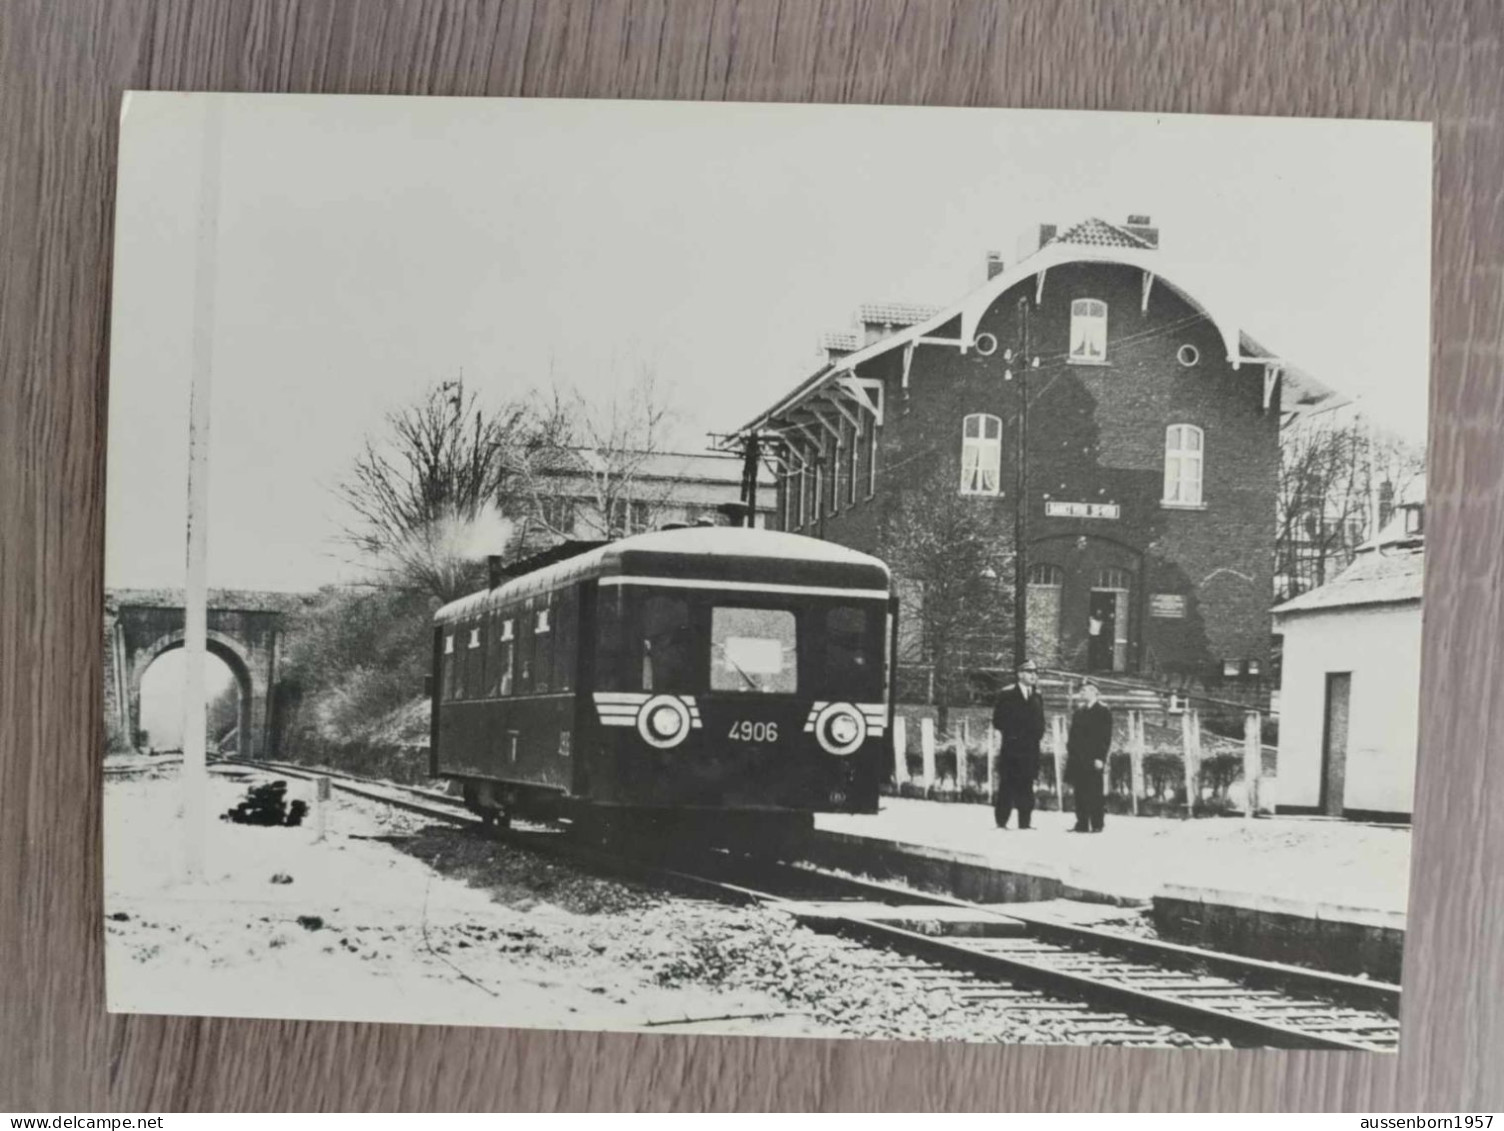
[{"label": "small white building with dark door at right edge", "polygon": [[1424,483],[1333,581],[1274,609],[1280,811],[1408,820],[1420,741]]}]

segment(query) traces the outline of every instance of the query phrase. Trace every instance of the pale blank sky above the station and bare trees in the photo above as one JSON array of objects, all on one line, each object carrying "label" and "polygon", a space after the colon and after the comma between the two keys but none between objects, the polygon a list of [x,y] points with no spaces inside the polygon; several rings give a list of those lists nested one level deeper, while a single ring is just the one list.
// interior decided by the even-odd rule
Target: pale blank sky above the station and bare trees
[{"label": "pale blank sky above the station and bare trees", "polygon": [[1421,442],[1430,186],[1421,123],[131,93],[107,584],[182,584],[196,356],[209,582],[310,590],[355,576],[334,487],[432,382],[650,370],[698,451],[859,304],[949,304],[988,251],[1090,215],[1151,215],[1247,332]]}]

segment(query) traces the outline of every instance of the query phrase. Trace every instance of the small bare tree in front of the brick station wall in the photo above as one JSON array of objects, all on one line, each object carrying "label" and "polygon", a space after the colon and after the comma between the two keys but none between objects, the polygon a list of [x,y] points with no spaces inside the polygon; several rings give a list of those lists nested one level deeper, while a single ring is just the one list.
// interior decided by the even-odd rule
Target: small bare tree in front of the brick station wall
[{"label": "small bare tree in front of the brick station wall", "polygon": [[1012,647],[1008,514],[996,499],[961,495],[958,483],[958,469],[942,462],[902,490],[883,544],[898,581],[899,623],[917,627],[932,672],[940,729],[967,674],[996,668]]}]

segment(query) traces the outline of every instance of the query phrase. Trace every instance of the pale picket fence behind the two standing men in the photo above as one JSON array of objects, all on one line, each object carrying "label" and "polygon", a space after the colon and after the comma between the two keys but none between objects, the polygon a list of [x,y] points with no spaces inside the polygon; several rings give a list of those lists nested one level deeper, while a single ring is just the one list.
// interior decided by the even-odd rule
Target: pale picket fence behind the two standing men
[{"label": "pale picket fence behind the two standing men", "polygon": [[[985,711],[958,708],[948,734],[922,707],[899,707],[893,725],[893,791],[904,797],[990,802],[997,787]],[[1274,812],[1274,747],[1262,741],[1260,711],[1242,713],[1242,738],[1203,729],[1196,707],[1119,710],[1113,752],[1102,767],[1107,808],[1119,814],[1215,815]],[[1047,710],[1035,805],[1074,805],[1065,781],[1065,711]]]}]

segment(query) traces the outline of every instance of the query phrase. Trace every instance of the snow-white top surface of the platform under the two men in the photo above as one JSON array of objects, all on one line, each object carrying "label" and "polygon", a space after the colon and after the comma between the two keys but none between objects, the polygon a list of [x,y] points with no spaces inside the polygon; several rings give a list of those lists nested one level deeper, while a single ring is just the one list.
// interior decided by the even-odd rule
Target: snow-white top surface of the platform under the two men
[{"label": "snow-white top surface of the platform under the two men", "polygon": [[[1072,887],[1148,899],[1164,884],[1378,911],[1405,911],[1408,827],[1319,818],[1107,815],[1102,833],[1071,833],[1072,814],[1035,812],[1032,830],[1000,830],[985,805],[883,797],[872,817],[826,814],[820,829],[985,857]],[[1211,895],[1208,895],[1211,898]]]}]

